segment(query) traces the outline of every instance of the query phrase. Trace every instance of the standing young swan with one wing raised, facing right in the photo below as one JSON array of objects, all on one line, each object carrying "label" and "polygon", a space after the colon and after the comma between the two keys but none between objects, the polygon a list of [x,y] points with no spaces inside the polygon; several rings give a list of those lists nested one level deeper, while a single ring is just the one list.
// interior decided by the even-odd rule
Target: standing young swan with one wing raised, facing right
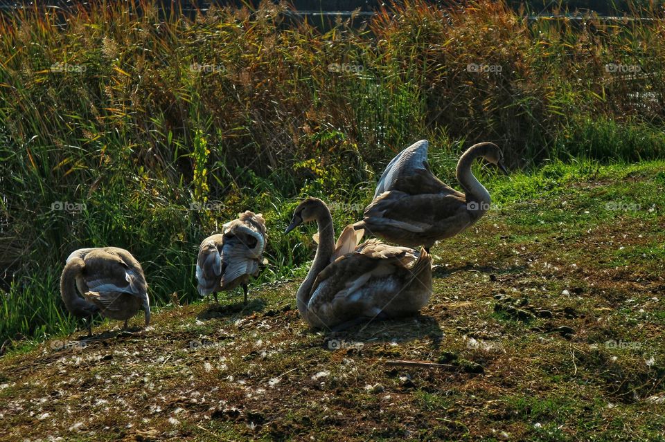
[{"label": "standing young swan with one wing raised, facing right", "polygon": [[459,158],[457,181],[465,193],[445,185],[427,163],[427,140],[420,140],[398,154],[383,172],[364,219],[353,226],[400,246],[424,246],[429,252],[440,239],[453,237],[478,221],[492,202],[487,189],[471,172],[477,158],[484,158],[508,174],[497,145],[481,142]]}]

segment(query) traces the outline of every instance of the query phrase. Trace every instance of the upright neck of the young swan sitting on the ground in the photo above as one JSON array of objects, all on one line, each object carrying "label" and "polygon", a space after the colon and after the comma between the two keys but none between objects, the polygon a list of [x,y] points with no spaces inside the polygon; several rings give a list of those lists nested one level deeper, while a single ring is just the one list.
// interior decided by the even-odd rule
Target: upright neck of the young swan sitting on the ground
[{"label": "upright neck of the young swan sitting on the ground", "polygon": [[307,319],[307,305],[310,302],[310,297],[312,297],[314,281],[319,273],[330,264],[330,257],[332,257],[332,252],[335,251],[335,230],[332,228],[332,216],[325,205],[321,207],[319,217],[317,217],[317,225],[319,228],[317,253],[314,255],[310,271],[307,273],[307,277],[305,277],[296,296],[298,310],[305,320]]}]

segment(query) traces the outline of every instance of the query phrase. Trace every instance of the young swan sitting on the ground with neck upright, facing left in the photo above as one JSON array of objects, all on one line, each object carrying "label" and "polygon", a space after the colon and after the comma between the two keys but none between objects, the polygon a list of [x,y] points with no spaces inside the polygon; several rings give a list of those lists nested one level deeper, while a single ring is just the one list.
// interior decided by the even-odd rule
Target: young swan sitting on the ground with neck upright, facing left
[{"label": "young swan sitting on the ground with neck upright, facing left", "polygon": [[425,250],[388,246],[376,239],[357,246],[362,232],[353,226],[335,244],[330,210],[305,199],[285,233],[317,221],[317,253],[296,295],[298,310],[314,328],[343,330],[375,317],[413,315],[432,294],[432,259]]}]

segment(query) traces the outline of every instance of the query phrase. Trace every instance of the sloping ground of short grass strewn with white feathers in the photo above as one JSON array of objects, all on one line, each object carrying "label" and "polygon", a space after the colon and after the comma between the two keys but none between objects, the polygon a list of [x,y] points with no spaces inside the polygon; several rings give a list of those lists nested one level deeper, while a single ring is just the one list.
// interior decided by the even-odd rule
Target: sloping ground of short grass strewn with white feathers
[{"label": "sloping ground of short grass strewn with white feathers", "polygon": [[664,169],[490,181],[497,207],[432,249],[416,318],[312,333],[297,279],[16,349],[0,440],[664,441]]}]

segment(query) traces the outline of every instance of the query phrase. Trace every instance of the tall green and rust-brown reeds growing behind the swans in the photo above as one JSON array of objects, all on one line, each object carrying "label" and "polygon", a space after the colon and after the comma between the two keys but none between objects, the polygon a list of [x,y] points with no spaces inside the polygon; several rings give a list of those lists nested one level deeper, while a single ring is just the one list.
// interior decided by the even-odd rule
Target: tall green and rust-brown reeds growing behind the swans
[{"label": "tall green and rust-brown reeds growing behind the swans", "polygon": [[502,3],[414,1],[321,33],[285,26],[282,9],[164,19],[149,2],[101,2],[2,17],[0,338],[73,330],[57,279],[82,246],[129,249],[156,304],[193,300],[197,244],[241,210],[269,225],[259,283],[288,278],[310,256],[280,233],[297,199],[355,221],[418,139],[450,183],[480,140],[513,169],[664,154],[655,12],[580,28],[530,25]]}]

